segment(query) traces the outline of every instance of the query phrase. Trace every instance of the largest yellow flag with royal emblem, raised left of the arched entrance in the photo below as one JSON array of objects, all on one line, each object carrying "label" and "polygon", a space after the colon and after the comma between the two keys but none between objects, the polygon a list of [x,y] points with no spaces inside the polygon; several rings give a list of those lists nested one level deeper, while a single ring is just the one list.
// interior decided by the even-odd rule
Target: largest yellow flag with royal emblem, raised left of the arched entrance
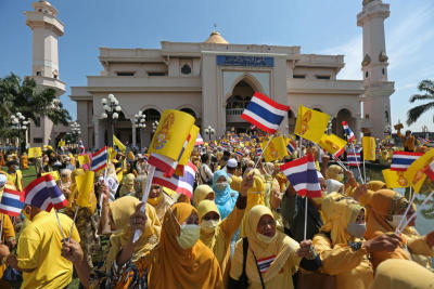
[{"label": "largest yellow flag with royal emblem, raised left of the arched entrance", "polygon": [[164,110],[148,153],[178,160],[193,124],[194,117],[187,113]]}]

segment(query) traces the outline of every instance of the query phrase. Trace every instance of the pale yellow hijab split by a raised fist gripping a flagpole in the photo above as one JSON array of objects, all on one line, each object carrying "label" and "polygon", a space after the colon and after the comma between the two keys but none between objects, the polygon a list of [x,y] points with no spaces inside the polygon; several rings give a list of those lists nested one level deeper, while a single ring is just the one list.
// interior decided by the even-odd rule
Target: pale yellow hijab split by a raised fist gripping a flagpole
[{"label": "pale yellow hijab split by a raised fist gripping a flagpole", "polygon": [[[131,229],[129,221],[131,215],[136,212],[136,207],[140,200],[136,197],[126,196],[116,199],[108,205],[108,223],[114,234],[110,237],[111,249],[105,261],[105,271],[108,273],[113,261],[119,251],[125,248],[129,242]],[[135,244],[132,252],[132,262],[136,262],[152,248],[154,248],[159,240],[162,225],[151,205],[146,205],[146,227],[145,233],[142,234],[139,240]]]}]

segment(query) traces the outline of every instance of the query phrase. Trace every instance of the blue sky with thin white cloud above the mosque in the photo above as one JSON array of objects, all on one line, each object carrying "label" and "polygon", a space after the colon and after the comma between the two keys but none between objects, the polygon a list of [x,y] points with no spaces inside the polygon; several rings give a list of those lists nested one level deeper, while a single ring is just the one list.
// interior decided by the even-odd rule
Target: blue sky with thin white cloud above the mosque
[{"label": "blue sky with thin white cloud above the mosque", "polygon": [[[159,41],[205,40],[217,29],[231,43],[301,45],[302,53],[344,54],[341,79],[361,79],[361,28],[356,15],[362,0],[52,0],[65,24],[60,38],[60,78],[67,92],[62,103],[75,119],[71,86],[86,86],[99,75],[100,47],[159,48]],[[385,1],[392,2],[392,1]],[[0,77],[31,71],[31,30],[25,25],[33,1],[0,0]],[[395,81],[392,119],[406,120],[422,79],[434,79],[434,2],[395,0],[385,23],[388,78]],[[434,131],[433,113],[411,127]]]}]

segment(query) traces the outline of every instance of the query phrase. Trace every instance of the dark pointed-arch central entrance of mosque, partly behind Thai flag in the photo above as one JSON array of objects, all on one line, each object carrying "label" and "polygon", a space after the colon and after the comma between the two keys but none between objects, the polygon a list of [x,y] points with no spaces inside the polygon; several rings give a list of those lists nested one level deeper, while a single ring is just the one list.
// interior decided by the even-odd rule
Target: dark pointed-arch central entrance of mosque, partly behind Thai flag
[{"label": "dark pointed-arch central entrance of mosque, partly behind Thai flag", "polygon": [[245,80],[241,80],[233,88],[232,95],[226,101],[226,131],[240,133],[252,130],[251,123],[240,116],[254,93],[254,88]]}]

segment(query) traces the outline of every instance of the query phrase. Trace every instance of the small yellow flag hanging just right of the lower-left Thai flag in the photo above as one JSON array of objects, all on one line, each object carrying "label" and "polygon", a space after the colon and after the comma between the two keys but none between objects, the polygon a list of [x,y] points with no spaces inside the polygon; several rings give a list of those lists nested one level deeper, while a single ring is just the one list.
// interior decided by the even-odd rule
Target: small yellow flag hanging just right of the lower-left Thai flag
[{"label": "small yellow flag hanging just right of the lower-left Thai flag", "polygon": [[76,183],[78,188],[78,195],[76,202],[81,208],[89,208],[90,212],[93,213],[97,209],[97,197],[94,195],[94,172],[86,171],[84,175],[76,176]]}]

